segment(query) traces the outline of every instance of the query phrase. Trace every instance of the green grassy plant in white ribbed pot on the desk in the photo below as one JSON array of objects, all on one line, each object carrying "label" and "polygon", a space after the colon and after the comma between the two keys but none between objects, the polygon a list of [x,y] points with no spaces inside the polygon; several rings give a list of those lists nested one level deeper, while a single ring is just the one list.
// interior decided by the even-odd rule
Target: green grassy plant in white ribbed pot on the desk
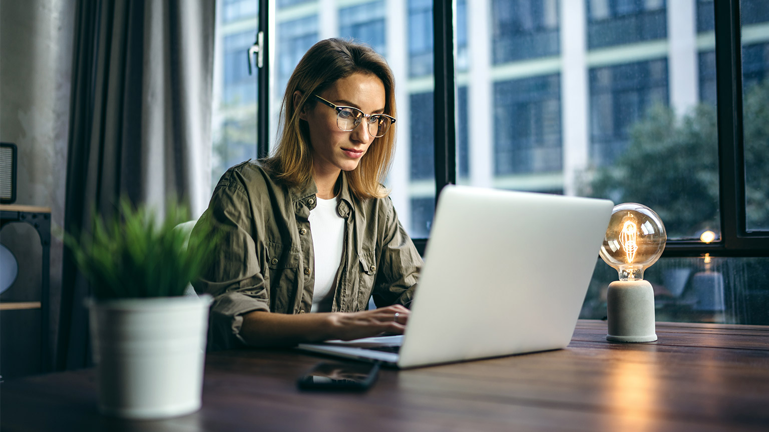
[{"label": "green grassy plant in white ribbed pot on the desk", "polygon": [[176,228],[185,214],[169,205],[158,218],[122,201],[111,218],[95,214],[92,232],[65,234],[92,286],[87,303],[104,414],[161,418],[201,406],[211,297],[185,295],[185,287],[200,274],[211,242]]}]

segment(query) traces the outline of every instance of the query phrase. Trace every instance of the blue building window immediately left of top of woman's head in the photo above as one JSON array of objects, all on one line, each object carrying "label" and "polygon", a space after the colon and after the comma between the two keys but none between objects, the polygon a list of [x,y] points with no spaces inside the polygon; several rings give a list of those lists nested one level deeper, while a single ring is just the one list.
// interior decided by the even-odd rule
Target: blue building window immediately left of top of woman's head
[{"label": "blue building window immediately left of top of woman's head", "polygon": [[312,45],[318,42],[318,16],[281,22],[278,27],[278,88],[284,91],[291,73]]}]

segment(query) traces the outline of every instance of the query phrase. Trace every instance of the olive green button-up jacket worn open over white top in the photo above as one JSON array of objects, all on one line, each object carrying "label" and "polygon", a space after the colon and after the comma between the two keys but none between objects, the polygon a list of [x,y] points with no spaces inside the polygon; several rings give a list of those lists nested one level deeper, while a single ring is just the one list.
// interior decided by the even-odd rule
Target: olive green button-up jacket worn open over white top
[{"label": "olive green button-up jacket worn open over white top", "polygon": [[[337,211],[346,219],[345,249],[331,310],[364,311],[372,294],[378,307],[408,306],[421,257],[390,198],[355,198],[342,172]],[[288,187],[252,161],[230,168],[221,177],[192,232],[195,235],[206,221],[216,241],[215,258],[192,282],[198,294],[214,297],[209,349],[243,346],[240,330],[247,312],[310,311],[315,250],[308,217],[317,191],[314,181]]]}]

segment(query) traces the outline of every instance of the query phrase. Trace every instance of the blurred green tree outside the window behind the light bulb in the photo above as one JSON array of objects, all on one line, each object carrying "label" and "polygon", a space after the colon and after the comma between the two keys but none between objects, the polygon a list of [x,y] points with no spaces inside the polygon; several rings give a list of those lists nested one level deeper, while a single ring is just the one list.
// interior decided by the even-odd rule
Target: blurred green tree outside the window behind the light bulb
[{"label": "blurred green tree outside the window behind the light bulb", "polygon": [[[744,101],[748,226],[769,228],[769,82],[754,85]],[[716,111],[697,105],[678,118],[654,105],[631,126],[627,151],[599,168],[588,196],[638,202],[664,221],[669,238],[698,238],[719,229]]]}]

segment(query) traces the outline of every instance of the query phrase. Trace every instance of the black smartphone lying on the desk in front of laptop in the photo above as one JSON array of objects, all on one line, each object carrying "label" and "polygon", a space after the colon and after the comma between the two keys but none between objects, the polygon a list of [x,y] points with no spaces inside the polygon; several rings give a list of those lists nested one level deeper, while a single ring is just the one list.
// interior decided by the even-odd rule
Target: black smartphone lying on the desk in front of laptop
[{"label": "black smartphone lying on the desk in front of laptop", "polygon": [[321,362],[302,375],[296,384],[302,390],[366,390],[379,374],[376,363]]}]

